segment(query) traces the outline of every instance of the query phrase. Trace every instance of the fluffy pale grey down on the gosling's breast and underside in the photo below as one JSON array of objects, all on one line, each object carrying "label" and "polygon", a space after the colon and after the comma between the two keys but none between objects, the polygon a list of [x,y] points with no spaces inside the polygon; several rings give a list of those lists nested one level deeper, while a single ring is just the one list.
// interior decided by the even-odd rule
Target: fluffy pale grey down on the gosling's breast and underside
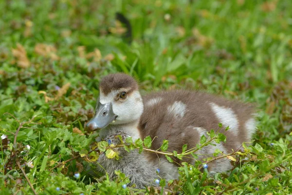
[{"label": "fluffy pale grey down on the gosling's breast and underside", "polygon": [[[121,135],[124,141],[129,137],[122,128],[112,126],[104,140],[110,140],[114,145],[120,144],[121,142],[119,138],[115,137],[116,135]],[[115,178],[114,171],[120,170],[129,177],[131,181],[129,185],[135,184],[136,188],[144,188],[150,185],[157,186],[155,180],[160,177],[166,180],[178,178],[174,165],[170,164],[170,167],[165,167],[168,165],[165,159],[149,161],[145,152],[139,154],[137,150],[133,150],[128,153],[124,148],[115,148],[114,150],[119,154],[118,160],[109,159],[103,153],[95,163],[95,169],[99,172],[106,170],[111,179]],[[157,169],[160,169],[159,175],[156,173]]]}]

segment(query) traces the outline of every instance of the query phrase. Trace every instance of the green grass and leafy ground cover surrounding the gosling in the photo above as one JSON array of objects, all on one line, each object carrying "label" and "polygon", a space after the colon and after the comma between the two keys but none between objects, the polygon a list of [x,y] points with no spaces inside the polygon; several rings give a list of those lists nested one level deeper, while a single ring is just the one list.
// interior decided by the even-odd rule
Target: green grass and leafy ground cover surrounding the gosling
[{"label": "green grass and leafy ground cover surrounding the gosling", "polygon": [[121,173],[90,180],[76,159],[54,168],[89,149],[98,82],[121,71],[142,93],[199,89],[259,108],[253,158],[230,176],[185,164],[173,192],[292,194],[291,0],[11,0],[0,10],[0,194],[134,192]]}]

